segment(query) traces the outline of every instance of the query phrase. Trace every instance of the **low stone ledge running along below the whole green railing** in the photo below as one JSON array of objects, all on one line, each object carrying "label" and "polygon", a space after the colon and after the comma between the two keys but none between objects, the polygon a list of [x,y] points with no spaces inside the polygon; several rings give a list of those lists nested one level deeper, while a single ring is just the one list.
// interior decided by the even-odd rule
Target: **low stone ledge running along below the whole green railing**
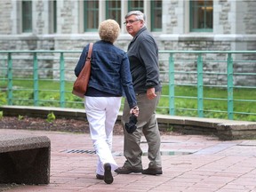
[{"label": "low stone ledge running along below the whole green railing", "polygon": [[[84,119],[84,109],[76,108],[47,108],[28,106],[2,106],[0,111],[4,116],[45,116],[51,112],[58,117]],[[117,122],[121,121],[119,113]],[[220,140],[240,140],[256,138],[256,122],[235,121],[216,118],[200,118],[189,116],[156,115],[159,129],[182,132],[184,134],[214,134]]]}]

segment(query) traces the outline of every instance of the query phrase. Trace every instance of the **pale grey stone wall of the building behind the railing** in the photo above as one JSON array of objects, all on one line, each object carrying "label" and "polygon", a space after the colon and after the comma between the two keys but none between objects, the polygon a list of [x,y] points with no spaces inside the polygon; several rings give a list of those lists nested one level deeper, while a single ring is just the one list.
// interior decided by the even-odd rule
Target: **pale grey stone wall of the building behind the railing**
[{"label": "pale grey stone wall of the building behind the railing", "polygon": [[[51,1],[33,1],[33,31],[32,33],[20,32],[20,3],[21,1],[10,0],[0,2],[0,51],[1,50],[77,50],[81,51],[85,44],[99,39],[98,33],[81,32],[80,1],[57,1],[57,31],[52,33]],[[186,50],[186,51],[229,51],[229,50],[256,50],[256,1],[213,1],[213,32],[212,33],[189,33],[188,31],[188,1],[172,0],[163,1],[163,32],[153,33],[159,44],[159,50]],[[122,26],[124,28],[124,26]],[[126,32],[122,33],[116,41],[116,45],[127,50],[132,37]],[[65,55],[66,68],[75,68],[79,54]],[[227,60],[226,54],[205,55],[204,71],[226,72],[226,64],[212,60]],[[0,60],[5,56],[0,54]],[[56,57],[56,54],[49,55]],[[177,63],[177,70],[196,70],[196,58],[192,55],[178,55],[188,62]],[[180,59],[178,58],[178,59]],[[191,60],[191,58],[193,58]],[[69,60],[70,59],[70,60]],[[160,55],[160,60],[168,60],[168,55]],[[252,54],[235,56],[235,60],[256,60]],[[207,61],[208,60],[208,63]],[[210,61],[209,61],[210,60]],[[1,63],[4,63],[2,61]],[[209,64],[209,65],[208,65]],[[17,68],[31,66],[32,63],[15,61]],[[56,60],[40,62],[40,68],[60,68]],[[161,69],[168,71],[168,62],[160,61]],[[235,72],[256,72],[255,62],[234,62]],[[67,79],[75,78],[73,70],[67,70]],[[53,76],[59,78],[58,71],[41,71],[41,76]],[[196,82],[196,75],[177,75],[178,82],[191,84]],[[164,81],[168,76],[163,75]],[[255,76],[236,76],[235,84],[256,84]],[[204,84],[226,84],[225,76],[205,75]]]}]

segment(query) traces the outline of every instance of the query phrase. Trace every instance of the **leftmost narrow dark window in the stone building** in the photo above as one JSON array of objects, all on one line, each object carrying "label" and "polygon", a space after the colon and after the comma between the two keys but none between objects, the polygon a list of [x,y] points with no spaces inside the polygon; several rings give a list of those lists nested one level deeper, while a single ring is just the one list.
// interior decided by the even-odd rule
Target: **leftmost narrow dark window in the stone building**
[{"label": "leftmost narrow dark window in the stone building", "polygon": [[22,1],[22,32],[32,32],[32,1]]}]

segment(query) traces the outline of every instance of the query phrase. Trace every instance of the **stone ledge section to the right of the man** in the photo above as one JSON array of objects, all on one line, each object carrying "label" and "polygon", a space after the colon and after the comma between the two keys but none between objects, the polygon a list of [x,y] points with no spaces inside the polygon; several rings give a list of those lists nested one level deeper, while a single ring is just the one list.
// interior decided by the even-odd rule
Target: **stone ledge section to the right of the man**
[{"label": "stone ledge section to the right of the man", "polygon": [[256,122],[165,115],[158,115],[157,121],[159,124],[169,124],[175,131],[185,134],[214,134],[220,140],[256,138]]}]

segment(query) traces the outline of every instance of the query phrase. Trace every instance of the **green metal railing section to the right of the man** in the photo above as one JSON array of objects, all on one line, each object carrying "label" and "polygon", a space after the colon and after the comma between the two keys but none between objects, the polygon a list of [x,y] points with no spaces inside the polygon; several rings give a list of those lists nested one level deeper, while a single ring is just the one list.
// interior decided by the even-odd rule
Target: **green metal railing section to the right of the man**
[{"label": "green metal railing section to the right of the man", "polygon": [[[233,97],[233,93],[234,93],[234,88],[248,88],[248,89],[253,89],[255,91],[256,89],[256,51],[233,51],[233,52],[220,52],[220,51],[162,51],[162,53],[170,53],[170,58],[169,58],[169,100],[170,100],[170,106],[169,106],[169,111],[170,111],[170,115],[175,115],[175,98],[179,98],[177,96],[175,96],[175,74],[179,73],[180,71],[175,70],[175,59],[174,59],[174,54],[177,53],[181,53],[181,54],[196,54],[197,60],[196,60],[196,76],[197,76],[197,81],[196,81],[196,88],[197,88],[197,116],[199,117],[204,117],[204,100],[227,100],[228,103],[228,108],[227,108],[227,113],[228,113],[228,119],[234,119],[234,114],[244,114],[244,115],[252,115],[255,116],[255,112],[253,113],[247,113],[245,111],[240,111],[240,112],[235,112],[234,111],[234,102],[235,101],[244,101],[244,102],[252,102],[252,108],[253,106],[255,106],[256,104],[256,95],[253,98],[253,100],[234,100]],[[207,86],[204,84],[204,74],[207,74],[207,72],[204,72],[204,60],[203,60],[203,56],[202,54],[225,54],[227,55],[227,60],[221,60],[221,62],[224,62],[227,64],[227,68],[226,68],[226,72],[225,73],[219,73],[222,75],[226,75],[227,76],[227,82],[224,85],[220,85],[219,87],[225,87],[227,88],[228,91],[228,95],[227,95],[227,99],[220,99],[220,98],[206,98],[204,97],[204,86]],[[254,73],[250,73],[250,72],[245,72],[245,73],[234,73],[234,60],[233,57],[236,56],[236,54],[252,54],[252,58],[254,58],[253,60],[236,60],[236,63],[243,63],[243,62],[248,62],[251,64],[251,68],[254,69]],[[248,56],[247,56],[248,58]],[[216,59],[216,58],[215,58]],[[217,59],[216,59],[217,60]],[[220,62],[220,60],[218,60]],[[240,68],[243,68],[240,65]],[[183,72],[186,73],[186,72]],[[191,71],[187,72],[187,73],[193,73]],[[208,72],[211,73],[211,72]],[[234,84],[234,76],[253,76],[253,82],[251,83],[251,85],[247,85],[247,86],[240,86],[240,85],[235,85]],[[245,79],[244,79],[245,80]],[[180,84],[179,84],[180,85]],[[183,84],[186,85],[186,84]],[[187,84],[187,85],[191,85],[191,84]],[[209,85],[208,85],[209,86]],[[210,86],[214,86],[214,84],[210,85]],[[256,92],[255,92],[256,93]],[[180,97],[182,98],[182,97]],[[187,99],[192,99],[193,97],[183,97],[183,98],[187,98]],[[221,111],[215,111],[215,112],[221,112]]]}]

